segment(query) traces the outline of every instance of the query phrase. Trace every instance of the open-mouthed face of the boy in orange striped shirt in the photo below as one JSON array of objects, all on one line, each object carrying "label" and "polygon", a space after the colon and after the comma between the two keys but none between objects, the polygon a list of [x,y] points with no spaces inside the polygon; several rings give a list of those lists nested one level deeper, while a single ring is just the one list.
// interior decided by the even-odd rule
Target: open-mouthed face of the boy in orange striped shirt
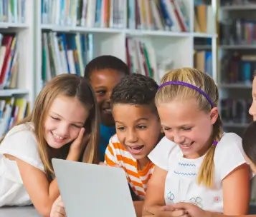
[{"label": "open-mouthed face of the boy in orange striped shirt", "polygon": [[113,117],[120,143],[136,160],[145,160],[156,146],[161,133],[156,113],[148,106],[115,104]]}]

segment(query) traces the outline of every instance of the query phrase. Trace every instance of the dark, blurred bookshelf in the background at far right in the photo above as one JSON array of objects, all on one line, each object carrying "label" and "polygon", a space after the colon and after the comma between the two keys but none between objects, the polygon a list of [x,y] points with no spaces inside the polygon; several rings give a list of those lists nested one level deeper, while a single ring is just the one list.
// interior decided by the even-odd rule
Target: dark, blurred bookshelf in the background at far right
[{"label": "dark, blurred bookshelf in the background at far right", "polygon": [[252,118],[252,76],[256,66],[255,1],[219,0],[220,111],[224,131],[242,136]]}]

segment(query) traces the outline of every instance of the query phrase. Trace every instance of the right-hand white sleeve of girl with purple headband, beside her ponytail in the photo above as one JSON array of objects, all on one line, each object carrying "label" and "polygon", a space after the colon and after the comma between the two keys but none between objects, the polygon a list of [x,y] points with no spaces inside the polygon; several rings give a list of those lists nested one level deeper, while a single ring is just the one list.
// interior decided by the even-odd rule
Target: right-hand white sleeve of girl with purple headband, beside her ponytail
[{"label": "right-hand white sleeve of girl with purple headband, beside her ponytail", "polygon": [[235,133],[224,133],[214,153],[216,173],[222,180],[243,163],[247,162],[242,148],[242,138]]}]

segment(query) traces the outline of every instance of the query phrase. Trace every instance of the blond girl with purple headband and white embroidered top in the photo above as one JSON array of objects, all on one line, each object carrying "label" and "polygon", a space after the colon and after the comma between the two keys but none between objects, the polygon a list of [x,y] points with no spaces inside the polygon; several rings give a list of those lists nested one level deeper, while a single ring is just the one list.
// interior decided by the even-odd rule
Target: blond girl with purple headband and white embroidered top
[{"label": "blond girl with purple headband and white embroidered top", "polygon": [[214,81],[199,70],[163,76],[156,106],[166,136],[149,154],[156,167],[144,216],[152,206],[181,201],[227,215],[247,213],[249,167],[241,138],[222,132],[218,100]]}]

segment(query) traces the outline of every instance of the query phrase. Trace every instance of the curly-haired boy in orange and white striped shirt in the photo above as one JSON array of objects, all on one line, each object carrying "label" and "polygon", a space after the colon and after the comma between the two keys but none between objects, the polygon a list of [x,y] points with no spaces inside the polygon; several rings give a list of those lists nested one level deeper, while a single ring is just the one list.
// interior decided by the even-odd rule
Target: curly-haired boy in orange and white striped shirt
[{"label": "curly-haired boy in orange and white striped shirt", "polygon": [[105,151],[105,164],[125,171],[138,200],[133,202],[137,216],[142,215],[148,180],[154,168],[148,153],[162,137],[154,101],[157,89],[153,79],[131,74],[115,86],[110,97],[116,134],[110,138]]}]

